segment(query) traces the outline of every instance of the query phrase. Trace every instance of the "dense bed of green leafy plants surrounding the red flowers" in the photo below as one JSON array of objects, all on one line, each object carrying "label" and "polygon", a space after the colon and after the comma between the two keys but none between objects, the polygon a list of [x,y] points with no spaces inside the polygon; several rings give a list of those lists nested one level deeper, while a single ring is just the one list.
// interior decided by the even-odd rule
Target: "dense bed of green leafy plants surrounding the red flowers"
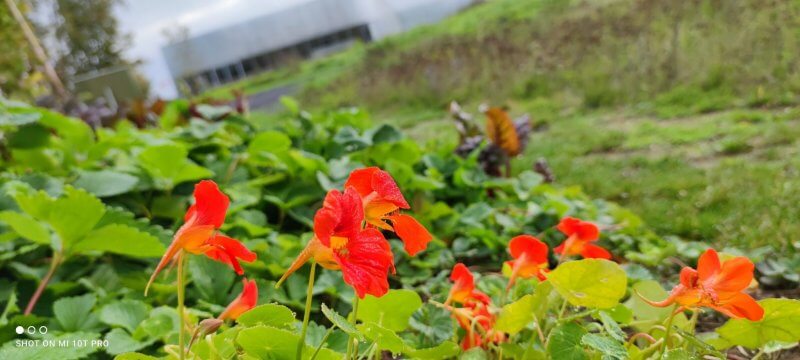
[{"label": "dense bed of green leafy plants surrounding the red flowers", "polygon": [[[720,357],[721,350],[735,345],[763,355],[800,339],[796,300],[761,300],[762,320],[731,320],[716,332],[703,328],[698,334],[696,308],[687,320],[671,316],[671,308],[648,305],[667,297],[658,282],[663,279],[651,270],[671,269],[664,260],[674,255],[694,263],[705,246],[662,239],[613,203],[591,199],[578,188],[543,183],[533,171],[489,176],[479,162],[480,148],[466,157],[449,146],[422,148],[390,125],[374,125],[358,109],[310,114],[291,100],[284,104],[291,115],[267,121],[227,107],[173,102],[155,127],[120,122],[113,129],[92,129],[80,120],[5,101],[0,107],[5,139],[0,149],[0,341],[5,343],[0,358],[108,358],[129,352],[180,357],[177,344],[186,342],[192,344],[190,356],[201,359],[237,354],[292,359],[304,339],[303,358],[383,352],[421,359],[653,354],[683,359]],[[339,314],[355,312],[355,294],[339,271],[316,273],[308,289],[313,298],[306,296],[309,267],[274,285],[314,238],[314,216],[326,192],[345,191],[351,173],[367,166],[391,174],[409,213],[434,239],[412,257],[402,241],[384,232],[396,268],[388,277],[392,290],[364,297],[358,321],[351,316],[349,322]],[[190,256],[187,282],[178,276],[183,266],[165,269],[145,296],[157,259],[179,227],[190,222],[184,215],[195,184],[203,179],[213,180],[230,198],[218,227],[255,253],[254,261],[242,263],[242,272],[255,282],[243,283],[212,255]],[[510,240],[535,235],[545,249],[569,253],[569,246],[558,246],[569,243],[572,233],[557,227],[568,216],[596,224],[599,241],[591,241],[610,251],[614,261],[567,261],[545,252],[537,266],[552,269],[546,281],[519,276],[509,284],[507,277],[521,274],[514,261],[524,262],[514,246],[509,255]],[[448,301],[456,263],[482,274],[474,286],[486,294],[484,305],[462,298],[463,307],[455,307]],[[184,285],[186,311],[178,312],[173,306],[183,302]],[[43,290],[40,297],[37,287]],[[253,287],[258,306],[232,310],[256,297]],[[484,346],[464,345],[477,328],[464,326],[458,309],[488,312],[491,324],[478,327],[484,332],[491,327],[496,336],[483,338]],[[301,329],[294,313],[304,311],[311,321]],[[184,318],[187,326],[181,329]],[[228,322],[209,321],[214,318]],[[703,319],[720,318],[704,314],[700,323]],[[42,325],[49,332],[31,338],[107,342],[35,350],[15,345],[14,328]],[[665,329],[673,335],[665,336]],[[181,333],[197,338],[179,341]],[[353,344],[348,338],[356,340],[356,349],[348,351]]]}]

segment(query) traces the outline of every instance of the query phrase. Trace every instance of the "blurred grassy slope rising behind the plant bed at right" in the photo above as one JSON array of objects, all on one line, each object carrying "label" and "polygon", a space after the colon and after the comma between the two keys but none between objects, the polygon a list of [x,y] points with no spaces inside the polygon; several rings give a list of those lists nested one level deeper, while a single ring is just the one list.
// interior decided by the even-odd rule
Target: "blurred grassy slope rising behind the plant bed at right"
[{"label": "blurred grassy slope rising behind the plant bed at right", "polygon": [[304,103],[366,106],[423,143],[455,141],[442,110],[451,99],[505,103],[546,124],[517,169],[545,157],[560,183],[664,234],[788,250],[800,233],[799,10],[492,0],[240,85],[301,82]]}]

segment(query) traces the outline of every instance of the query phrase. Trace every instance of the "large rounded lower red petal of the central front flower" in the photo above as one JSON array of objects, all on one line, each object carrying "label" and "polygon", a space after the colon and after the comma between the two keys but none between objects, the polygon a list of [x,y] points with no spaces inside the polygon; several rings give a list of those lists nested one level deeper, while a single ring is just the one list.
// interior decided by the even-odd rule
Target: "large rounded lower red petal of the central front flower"
[{"label": "large rounded lower red petal of the central front flower", "polygon": [[334,254],[344,282],[353,287],[358,297],[381,297],[389,291],[388,273],[394,266],[394,257],[380,231],[363,230],[348,239],[346,251]]}]

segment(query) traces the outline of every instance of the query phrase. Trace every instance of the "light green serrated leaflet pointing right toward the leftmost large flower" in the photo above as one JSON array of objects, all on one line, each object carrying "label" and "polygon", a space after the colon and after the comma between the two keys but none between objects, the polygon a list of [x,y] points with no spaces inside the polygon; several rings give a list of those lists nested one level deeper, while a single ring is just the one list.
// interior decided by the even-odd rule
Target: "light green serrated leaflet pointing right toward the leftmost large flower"
[{"label": "light green serrated leaflet pointing right toward the leftmost large flower", "polygon": [[160,257],[166,248],[153,235],[127,225],[111,224],[87,234],[75,244],[72,251],[104,251],[135,257]]}]

